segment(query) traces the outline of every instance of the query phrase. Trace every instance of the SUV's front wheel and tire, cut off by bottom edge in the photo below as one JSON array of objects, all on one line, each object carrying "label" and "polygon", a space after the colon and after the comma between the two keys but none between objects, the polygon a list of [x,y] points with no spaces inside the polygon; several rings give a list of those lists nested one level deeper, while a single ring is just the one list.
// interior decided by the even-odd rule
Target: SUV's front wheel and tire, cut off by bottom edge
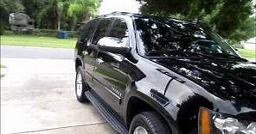
[{"label": "SUV's front wheel and tire, cut off by bottom edge", "polygon": [[165,120],[156,112],[138,113],[131,121],[129,134],[171,134]]}]

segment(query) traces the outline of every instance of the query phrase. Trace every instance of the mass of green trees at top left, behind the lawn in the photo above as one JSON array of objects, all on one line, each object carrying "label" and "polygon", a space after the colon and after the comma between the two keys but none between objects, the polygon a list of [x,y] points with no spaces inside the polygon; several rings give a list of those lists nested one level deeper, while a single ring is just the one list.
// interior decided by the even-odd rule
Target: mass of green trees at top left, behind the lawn
[{"label": "mass of green trees at top left, behind the lawn", "polygon": [[3,23],[4,27],[8,26],[10,13],[23,12],[35,19],[35,27],[74,30],[80,21],[97,15],[100,2],[101,0],[0,0],[1,27]]}]

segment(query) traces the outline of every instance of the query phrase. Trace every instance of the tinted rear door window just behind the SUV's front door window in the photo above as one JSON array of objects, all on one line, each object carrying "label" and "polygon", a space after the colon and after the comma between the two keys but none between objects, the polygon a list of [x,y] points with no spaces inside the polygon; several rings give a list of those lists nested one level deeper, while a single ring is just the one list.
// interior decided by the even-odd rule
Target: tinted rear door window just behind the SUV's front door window
[{"label": "tinted rear door window just behind the SUV's front door window", "polygon": [[106,35],[108,26],[111,23],[111,19],[106,19],[106,20],[102,20],[99,21],[99,25],[94,33],[93,36],[93,44],[97,45],[99,39],[101,39],[102,37],[104,37]]}]

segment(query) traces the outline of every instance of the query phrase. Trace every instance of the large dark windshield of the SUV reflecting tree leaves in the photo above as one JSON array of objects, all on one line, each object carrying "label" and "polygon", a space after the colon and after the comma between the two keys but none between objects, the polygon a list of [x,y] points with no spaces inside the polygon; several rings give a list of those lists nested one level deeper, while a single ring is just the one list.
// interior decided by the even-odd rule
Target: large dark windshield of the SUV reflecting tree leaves
[{"label": "large dark windshield of the SUV reflecting tree leaves", "polygon": [[217,34],[188,21],[135,18],[139,51],[144,56],[171,57],[198,53],[214,57],[239,57]]}]

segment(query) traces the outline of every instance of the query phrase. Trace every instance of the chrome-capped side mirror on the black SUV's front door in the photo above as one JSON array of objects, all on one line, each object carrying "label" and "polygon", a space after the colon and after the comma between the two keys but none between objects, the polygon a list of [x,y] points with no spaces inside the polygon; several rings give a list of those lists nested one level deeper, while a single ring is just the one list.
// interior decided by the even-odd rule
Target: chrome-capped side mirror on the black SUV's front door
[{"label": "chrome-capped side mirror on the black SUV's front door", "polygon": [[116,54],[121,54],[126,56],[131,51],[131,48],[125,46],[123,40],[118,40],[118,38],[114,37],[103,37],[98,41],[98,48],[101,51],[112,52]]}]

